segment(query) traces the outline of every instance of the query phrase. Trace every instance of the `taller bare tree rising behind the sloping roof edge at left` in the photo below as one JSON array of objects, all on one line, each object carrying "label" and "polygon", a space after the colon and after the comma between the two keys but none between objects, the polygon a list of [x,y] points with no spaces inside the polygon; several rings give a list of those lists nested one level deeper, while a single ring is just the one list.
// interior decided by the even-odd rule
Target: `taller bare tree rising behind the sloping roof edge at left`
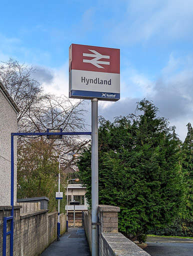
[{"label": "taller bare tree rising behind the sloping roof edge at left", "polygon": [[18,128],[23,127],[27,111],[45,96],[39,82],[32,78],[34,72],[32,66],[19,64],[13,58],[1,61],[0,64],[0,79],[20,109],[17,116]]}]

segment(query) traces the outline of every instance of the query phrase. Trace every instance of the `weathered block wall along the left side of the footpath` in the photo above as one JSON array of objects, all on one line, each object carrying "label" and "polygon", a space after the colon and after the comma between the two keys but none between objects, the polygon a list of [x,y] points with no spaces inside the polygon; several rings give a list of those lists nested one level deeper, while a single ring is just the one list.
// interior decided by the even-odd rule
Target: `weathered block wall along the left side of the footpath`
[{"label": "weathered block wall along the left side of the footpath", "polygon": [[[57,212],[48,209],[20,213],[21,206],[14,206],[14,256],[38,256],[57,237]],[[2,255],[3,216],[10,216],[11,206],[0,206],[0,256]],[[7,222],[7,231],[10,222]],[[66,215],[60,215],[60,233],[65,231]],[[9,235],[7,236],[9,255]]]}]

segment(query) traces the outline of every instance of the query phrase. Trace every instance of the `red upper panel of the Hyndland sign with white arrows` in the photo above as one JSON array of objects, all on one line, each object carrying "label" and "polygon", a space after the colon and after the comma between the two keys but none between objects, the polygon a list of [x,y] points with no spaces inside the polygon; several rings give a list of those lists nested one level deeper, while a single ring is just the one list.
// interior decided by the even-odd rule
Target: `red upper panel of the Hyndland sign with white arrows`
[{"label": "red upper panel of the Hyndland sign with white arrows", "polygon": [[120,49],[71,44],[69,48],[69,71],[85,70],[120,73]]}]

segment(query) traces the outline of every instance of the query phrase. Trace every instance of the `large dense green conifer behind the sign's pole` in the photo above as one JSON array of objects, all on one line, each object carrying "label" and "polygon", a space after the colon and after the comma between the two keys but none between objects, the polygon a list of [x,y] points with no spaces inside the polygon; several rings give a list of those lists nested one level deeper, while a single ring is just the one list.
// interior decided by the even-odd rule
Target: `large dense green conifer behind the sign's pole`
[{"label": "large dense green conifer behind the sign's pole", "polygon": [[[118,227],[135,239],[149,228],[172,222],[183,203],[179,140],[175,127],[157,117],[146,99],[138,115],[99,119],[99,203],[120,207]],[[79,159],[80,176],[91,205],[91,149]]]}]

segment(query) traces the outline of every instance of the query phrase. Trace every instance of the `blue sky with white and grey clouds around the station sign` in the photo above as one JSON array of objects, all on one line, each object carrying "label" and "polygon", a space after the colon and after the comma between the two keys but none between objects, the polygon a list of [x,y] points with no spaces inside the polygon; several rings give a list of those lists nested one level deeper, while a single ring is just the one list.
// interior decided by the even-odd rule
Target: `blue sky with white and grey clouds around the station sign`
[{"label": "blue sky with white and grey clouds around the station sign", "polygon": [[146,98],[184,140],[193,124],[193,0],[1,0],[0,20],[0,60],[33,65],[57,95],[68,95],[71,43],[119,48],[120,100],[99,101],[98,114],[113,121]]}]

